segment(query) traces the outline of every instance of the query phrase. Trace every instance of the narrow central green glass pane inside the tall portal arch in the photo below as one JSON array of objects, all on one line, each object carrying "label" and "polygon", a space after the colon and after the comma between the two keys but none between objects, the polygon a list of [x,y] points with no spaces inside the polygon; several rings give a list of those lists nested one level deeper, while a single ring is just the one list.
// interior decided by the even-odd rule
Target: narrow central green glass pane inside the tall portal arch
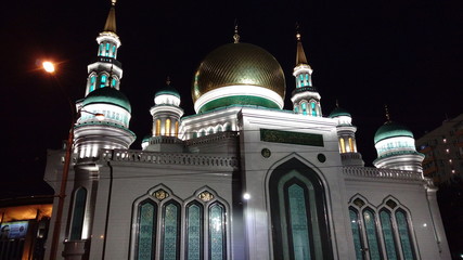
[{"label": "narrow central green glass pane inside the tall portal arch", "polygon": [[295,260],[310,259],[309,226],[307,221],[307,207],[304,188],[297,184],[290,186],[290,221],[293,240],[293,255]]}]

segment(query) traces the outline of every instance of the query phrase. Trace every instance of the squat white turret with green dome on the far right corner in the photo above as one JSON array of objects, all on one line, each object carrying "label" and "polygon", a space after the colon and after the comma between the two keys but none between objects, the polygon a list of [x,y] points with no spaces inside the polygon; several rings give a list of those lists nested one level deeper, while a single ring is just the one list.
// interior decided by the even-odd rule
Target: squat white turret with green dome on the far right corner
[{"label": "squat white turret with green dome on the far right corner", "polygon": [[416,152],[412,131],[390,120],[386,108],[386,122],[374,134],[374,146],[377,158],[373,161],[376,168],[412,170],[423,172],[424,155]]}]

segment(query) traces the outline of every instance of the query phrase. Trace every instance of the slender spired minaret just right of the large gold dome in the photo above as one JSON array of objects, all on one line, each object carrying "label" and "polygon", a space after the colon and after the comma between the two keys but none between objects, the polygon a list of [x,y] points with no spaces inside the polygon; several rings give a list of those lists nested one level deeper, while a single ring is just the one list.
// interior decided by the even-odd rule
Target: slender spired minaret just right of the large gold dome
[{"label": "slender spired minaret just right of the large gold dome", "polygon": [[321,117],[321,96],[312,86],[312,68],[307,63],[299,32],[296,34],[296,66],[293,72],[293,76],[296,78],[296,89],[293,91],[291,98],[291,101],[293,102],[293,109],[296,114]]}]

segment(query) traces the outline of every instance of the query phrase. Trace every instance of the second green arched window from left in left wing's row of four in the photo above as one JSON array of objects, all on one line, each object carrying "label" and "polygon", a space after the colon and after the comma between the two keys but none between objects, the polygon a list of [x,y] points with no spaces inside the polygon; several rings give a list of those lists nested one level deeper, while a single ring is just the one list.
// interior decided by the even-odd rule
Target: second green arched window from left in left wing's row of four
[{"label": "second green arched window from left in left wing's row of four", "polygon": [[164,206],[162,259],[177,260],[180,251],[180,205],[175,202]]}]

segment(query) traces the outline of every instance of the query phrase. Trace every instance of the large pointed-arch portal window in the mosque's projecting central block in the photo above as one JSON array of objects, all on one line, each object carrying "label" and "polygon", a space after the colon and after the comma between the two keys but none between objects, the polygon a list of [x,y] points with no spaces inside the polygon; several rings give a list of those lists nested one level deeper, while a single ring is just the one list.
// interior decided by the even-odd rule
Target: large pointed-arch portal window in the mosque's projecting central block
[{"label": "large pointed-arch portal window in the mosque's projecting central block", "polygon": [[274,259],[333,259],[324,187],[317,173],[290,159],[269,180]]}]

